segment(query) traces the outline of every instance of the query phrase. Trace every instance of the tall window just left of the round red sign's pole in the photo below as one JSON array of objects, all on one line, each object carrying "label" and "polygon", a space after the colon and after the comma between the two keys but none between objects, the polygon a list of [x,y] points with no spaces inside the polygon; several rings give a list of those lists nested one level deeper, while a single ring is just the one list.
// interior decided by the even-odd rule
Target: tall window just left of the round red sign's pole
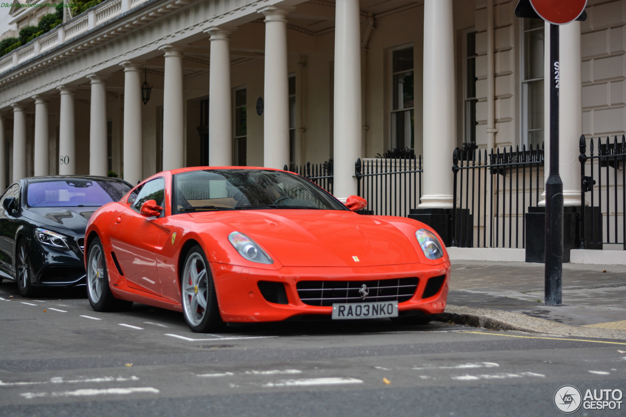
[{"label": "tall window just left of the round red sign's pole", "polygon": [[536,147],[544,138],[544,25],[541,19],[523,19],[522,22],[521,143]]}]

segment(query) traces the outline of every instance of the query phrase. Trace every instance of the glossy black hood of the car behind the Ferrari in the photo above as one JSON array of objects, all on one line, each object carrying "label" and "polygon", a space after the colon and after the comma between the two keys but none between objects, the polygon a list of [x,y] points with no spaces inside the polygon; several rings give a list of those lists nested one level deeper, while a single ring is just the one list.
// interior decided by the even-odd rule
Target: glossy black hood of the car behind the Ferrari
[{"label": "glossy black hood of the car behind the Ferrari", "polygon": [[97,207],[29,207],[23,216],[41,227],[55,227],[84,234]]}]

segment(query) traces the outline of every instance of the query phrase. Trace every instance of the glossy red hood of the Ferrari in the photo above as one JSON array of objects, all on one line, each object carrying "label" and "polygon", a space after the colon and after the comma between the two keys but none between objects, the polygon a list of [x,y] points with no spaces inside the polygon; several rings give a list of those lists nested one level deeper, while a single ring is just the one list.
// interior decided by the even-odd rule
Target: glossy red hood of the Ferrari
[{"label": "glossy red hood of the Ferrari", "polygon": [[284,266],[419,262],[410,237],[380,217],[341,210],[242,210],[220,217],[227,230],[249,236]]}]

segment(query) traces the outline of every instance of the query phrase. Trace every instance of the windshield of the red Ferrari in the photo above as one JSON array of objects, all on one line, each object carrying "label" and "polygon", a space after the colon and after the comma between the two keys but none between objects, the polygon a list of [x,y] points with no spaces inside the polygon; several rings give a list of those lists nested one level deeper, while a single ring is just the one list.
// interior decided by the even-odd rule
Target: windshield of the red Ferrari
[{"label": "windshield of the red Ferrari", "polygon": [[347,210],[332,195],[292,173],[217,169],[174,175],[174,212],[200,210]]}]

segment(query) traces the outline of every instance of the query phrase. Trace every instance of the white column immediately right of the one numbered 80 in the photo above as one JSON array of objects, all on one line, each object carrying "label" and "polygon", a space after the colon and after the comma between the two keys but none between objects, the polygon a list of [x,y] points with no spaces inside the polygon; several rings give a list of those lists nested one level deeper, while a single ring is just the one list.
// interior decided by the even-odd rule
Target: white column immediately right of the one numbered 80
[{"label": "white column immediately right of the one numbered 80", "polygon": [[89,173],[108,174],[108,149],[106,147],[106,81],[105,78],[90,74],[91,113],[89,130]]}]

